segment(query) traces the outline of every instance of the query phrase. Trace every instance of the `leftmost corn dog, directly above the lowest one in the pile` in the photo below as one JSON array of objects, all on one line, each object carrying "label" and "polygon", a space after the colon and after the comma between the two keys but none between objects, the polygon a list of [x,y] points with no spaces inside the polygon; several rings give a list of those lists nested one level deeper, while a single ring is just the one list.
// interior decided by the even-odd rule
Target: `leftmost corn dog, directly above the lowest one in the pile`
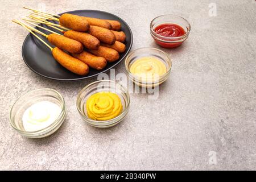
[{"label": "leftmost corn dog, directly above the lowest one in the pile", "polygon": [[66,38],[63,35],[49,34],[47,40],[56,47],[71,53],[80,53],[84,47],[76,40]]}]

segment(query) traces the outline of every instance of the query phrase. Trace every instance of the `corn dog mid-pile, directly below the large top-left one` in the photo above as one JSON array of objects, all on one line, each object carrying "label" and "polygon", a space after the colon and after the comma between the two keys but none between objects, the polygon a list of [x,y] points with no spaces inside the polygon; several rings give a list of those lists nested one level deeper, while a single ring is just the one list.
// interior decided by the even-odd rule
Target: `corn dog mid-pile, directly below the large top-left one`
[{"label": "corn dog mid-pile, directly below the large top-left one", "polygon": [[64,32],[64,36],[81,42],[88,49],[98,49],[100,46],[100,40],[85,32],[68,30]]}]

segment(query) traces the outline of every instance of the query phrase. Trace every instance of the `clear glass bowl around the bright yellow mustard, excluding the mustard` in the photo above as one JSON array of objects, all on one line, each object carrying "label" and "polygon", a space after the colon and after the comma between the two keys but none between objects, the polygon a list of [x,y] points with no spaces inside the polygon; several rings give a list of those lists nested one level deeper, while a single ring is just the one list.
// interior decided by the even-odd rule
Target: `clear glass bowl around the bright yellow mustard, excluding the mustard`
[{"label": "clear glass bowl around the bright yellow mustard, excluding the mustard", "polygon": [[[117,94],[121,99],[123,105],[122,113],[119,114],[117,117],[106,121],[96,121],[90,119],[86,111],[86,101],[90,96],[92,96],[92,94],[98,92],[112,92]],[[77,110],[79,110],[82,119],[84,119],[84,121],[88,123],[90,126],[100,128],[112,127],[121,122],[122,119],[125,118],[126,114],[128,113],[130,106],[130,95],[128,93],[128,90],[121,84],[118,84],[118,82],[112,80],[95,81],[89,85],[86,85],[85,88],[81,90],[81,92],[77,96],[76,106]]]}]

